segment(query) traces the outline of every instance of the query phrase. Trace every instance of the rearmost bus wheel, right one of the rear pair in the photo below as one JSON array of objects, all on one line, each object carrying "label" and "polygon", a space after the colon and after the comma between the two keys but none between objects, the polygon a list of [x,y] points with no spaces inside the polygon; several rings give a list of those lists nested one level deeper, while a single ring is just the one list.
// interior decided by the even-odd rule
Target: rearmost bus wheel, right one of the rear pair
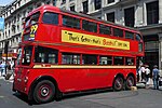
[{"label": "rearmost bus wheel, right one of the rear pair", "polygon": [[133,76],[129,76],[125,81],[125,89],[131,90],[131,86],[135,85],[135,79]]}]

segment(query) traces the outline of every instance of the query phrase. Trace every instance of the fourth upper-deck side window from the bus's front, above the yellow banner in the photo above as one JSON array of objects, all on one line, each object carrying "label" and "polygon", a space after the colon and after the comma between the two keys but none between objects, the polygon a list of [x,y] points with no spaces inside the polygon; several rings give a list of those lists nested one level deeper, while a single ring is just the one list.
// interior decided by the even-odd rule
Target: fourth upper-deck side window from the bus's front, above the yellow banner
[{"label": "fourth upper-deck side window from the bus's front, above the yellow banner", "polygon": [[111,35],[111,27],[106,25],[99,25],[99,33]]}]

